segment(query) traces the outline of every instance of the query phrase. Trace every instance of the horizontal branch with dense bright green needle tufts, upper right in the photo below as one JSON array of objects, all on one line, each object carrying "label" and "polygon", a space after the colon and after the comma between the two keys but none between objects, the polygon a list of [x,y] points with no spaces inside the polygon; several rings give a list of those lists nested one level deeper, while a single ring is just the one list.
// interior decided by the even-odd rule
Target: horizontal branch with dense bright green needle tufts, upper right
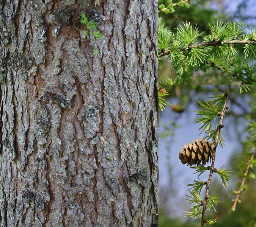
[{"label": "horizontal branch with dense bright green needle tufts, upper right", "polygon": [[217,22],[209,24],[210,34],[200,32],[197,27],[185,22],[176,28],[176,33],[159,19],[159,64],[168,56],[176,71],[177,84],[190,84],[193,72],[206,72],[216,68],[229,78],[243,84],[256,84],[256,32],[242,22]]}]

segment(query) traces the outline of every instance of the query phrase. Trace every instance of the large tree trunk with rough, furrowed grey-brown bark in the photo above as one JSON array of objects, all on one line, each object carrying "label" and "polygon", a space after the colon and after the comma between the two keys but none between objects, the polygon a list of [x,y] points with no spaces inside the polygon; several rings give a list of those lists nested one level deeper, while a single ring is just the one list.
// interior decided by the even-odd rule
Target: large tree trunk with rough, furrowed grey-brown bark
[{"label": "large tree trunk with rough, furrowed grey-brown bark", "polygon": [[99,3],[0,0],[1,227],[158,226],[157,2]]}]

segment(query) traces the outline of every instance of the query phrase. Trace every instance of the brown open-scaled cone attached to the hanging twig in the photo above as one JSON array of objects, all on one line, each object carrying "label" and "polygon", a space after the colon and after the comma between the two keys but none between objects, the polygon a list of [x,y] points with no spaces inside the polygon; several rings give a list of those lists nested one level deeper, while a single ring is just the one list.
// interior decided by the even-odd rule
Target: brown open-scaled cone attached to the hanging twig
[{"label": "brown open-scaled cone attached to the hanging twig", "polygon": [[188,142],[188,145],[184,145],[184,148],[181,149],[179,152],[179,159],[181,160],[182,164],[187,165],[205,165],[206,162],[212,161],[213,151],[210,145],[210,141],[207,139],[203,139],[200,137],[201,141],[196,138],[192,140],[193,143]]}]

